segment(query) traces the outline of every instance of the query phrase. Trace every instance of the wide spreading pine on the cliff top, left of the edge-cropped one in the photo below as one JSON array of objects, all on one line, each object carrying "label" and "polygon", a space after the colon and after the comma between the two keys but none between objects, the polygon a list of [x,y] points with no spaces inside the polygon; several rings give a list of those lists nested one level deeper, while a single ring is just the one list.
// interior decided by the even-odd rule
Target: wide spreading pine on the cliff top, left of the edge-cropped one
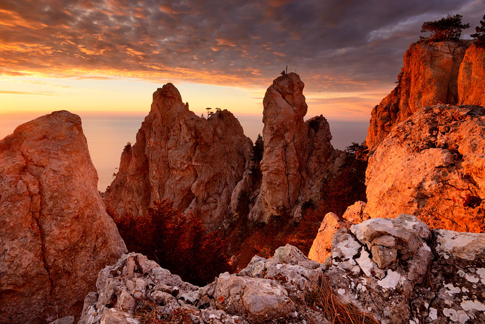
[{"label": "wide spreading pine on the cliff top, left of the edge-cropped one", "polygon": [[421,26],[421,33],[431,32],[428,37],[420,36],[421,40],[444,42],[460,40],[461,32],[470,27],[462,24],[461,15],[450,15],[435,21],[425,21]]}]

